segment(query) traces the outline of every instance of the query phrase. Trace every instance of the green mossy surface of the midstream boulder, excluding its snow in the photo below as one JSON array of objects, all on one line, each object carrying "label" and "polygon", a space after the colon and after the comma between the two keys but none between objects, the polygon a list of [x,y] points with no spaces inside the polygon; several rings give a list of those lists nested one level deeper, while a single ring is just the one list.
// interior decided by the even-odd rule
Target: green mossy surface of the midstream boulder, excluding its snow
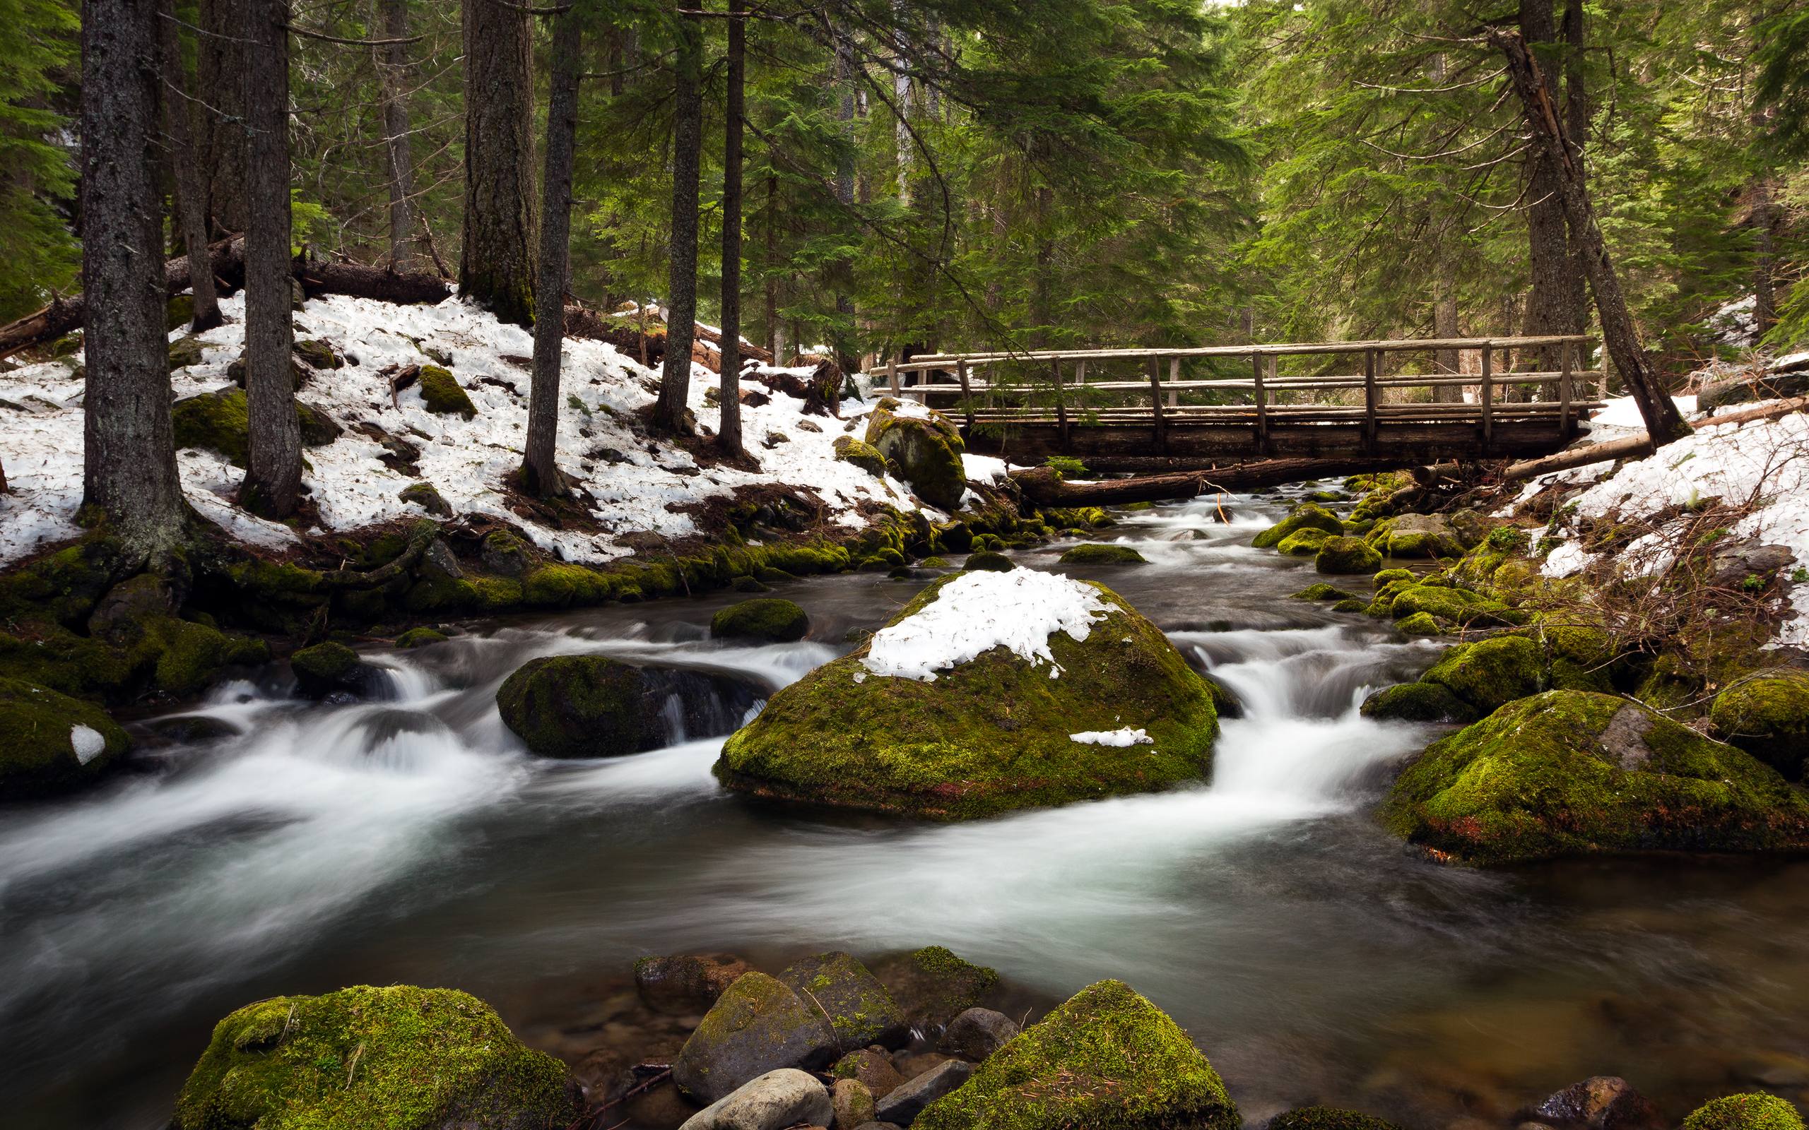
[{"label": "green mossy surface of the midstream boulder, excluding its snow", "polygon": [[[1060,678],[1006,647],[930,682],[874,674],[868,642],[774,694],[724,745],[716,779],[772,799],[966,819],[1205,777],[1217,736],[1210,689],[1154,624],[1093,588],[1105,613],[1087,638],[1049,636]],[[1154,743],[1069,738],[1120,727],[1143,727]]]}]

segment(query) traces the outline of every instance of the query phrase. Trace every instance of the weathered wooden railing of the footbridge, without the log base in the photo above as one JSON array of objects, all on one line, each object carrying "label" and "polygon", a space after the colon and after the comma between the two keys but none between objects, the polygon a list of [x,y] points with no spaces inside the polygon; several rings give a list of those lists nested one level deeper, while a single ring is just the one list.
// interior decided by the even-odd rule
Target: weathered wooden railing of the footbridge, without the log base
[{"label": "weathered wooden railing of the footbridge, without the log base", "polygon": [[[910,362],[888,362],[868,371],[890,394],[932,396],[953,401],[968,427],[1040,423],[1056,425],[1067,443],[1073,425],[1152,427],[1158,448],[1172,425],[1246,425],[1266,447],[1270,425],[1360,423],[1366,443],[1388,421],[1476,423],[1487,447],[1494,423],[1547,419],[1554,430],[1568,432],[1585,412],[1601,407],[1603,372],[1588,367],[1594,338],[1586,334],[1545,334],[1511,338],[1411,338],[1377,342],[1293,342],[1270,345],[1205,345],[1189,349],[1031,349],[1017,353],[939,353]],[[1514,372],[1512,351],[1554,351],[1558,367]],[[1480,372],[1395,372],[1386,374],[1384,358],[1402,353],[1474,351],[1482,354]],[[1283,374],[1281,358],[1351,354],[1362,358],[1360,372]],[[1245,360],[1248,378],[1187,378],[1189,358]],[[1498,365],[1498,360],[1501,362]],[[1134,380],[1122,376],[1136,365]],[[1029,380],[1009,371],[1029,367]],[[1109,376],[1118,369],[1120,376]],[[1091,371],[1091,372],[1089,372]],[[1093,380],[1089,380],[1089,374]],[[915,383],[910,383],[915,378]],[[924,380],[932,378],[932,380]],[[1507,401],[1507,389],[1538,387],[1547,400]],[[1389,401],[1389,389],[1473,387],[1474,401]],[[1248,392],[1248,403],[1183,403],[1189,392]],[[1360,391],[1360,403],[1331,403],[1304,398],[1312,392],[1348,394]],[[1286,398],[1286,400],[1284,400]],[[1340,396],[1342,398],[1342,396]],[[1037,401],[1044,403],[1037,403]]]}]

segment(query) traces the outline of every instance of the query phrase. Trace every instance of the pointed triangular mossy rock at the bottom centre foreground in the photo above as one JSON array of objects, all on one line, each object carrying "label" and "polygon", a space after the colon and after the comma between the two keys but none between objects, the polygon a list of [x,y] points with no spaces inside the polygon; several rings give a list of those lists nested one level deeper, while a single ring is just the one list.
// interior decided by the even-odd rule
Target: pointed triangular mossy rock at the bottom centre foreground
[{"label": "pointed triangular mossy rock at the bottom centre foreground", "polygon": [[1187,1032],[1123,982],[1098,982],[993,1052],[917,1130],[1237,1130],[1237,1105]]}]

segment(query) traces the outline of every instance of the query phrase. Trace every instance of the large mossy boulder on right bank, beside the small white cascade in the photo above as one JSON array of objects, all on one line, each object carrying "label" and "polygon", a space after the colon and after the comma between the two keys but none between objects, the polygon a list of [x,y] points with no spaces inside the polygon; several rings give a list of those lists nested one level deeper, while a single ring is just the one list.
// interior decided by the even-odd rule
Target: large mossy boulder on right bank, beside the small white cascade
[{"label": "large mossy boulder on right bank, beside the small white cascade", "polygon": [[1512,702],[1431,745],[1380,815],[1397,835],[1478,864],[1809,846],[1809,801],[1776,770],[1586,691]]}]

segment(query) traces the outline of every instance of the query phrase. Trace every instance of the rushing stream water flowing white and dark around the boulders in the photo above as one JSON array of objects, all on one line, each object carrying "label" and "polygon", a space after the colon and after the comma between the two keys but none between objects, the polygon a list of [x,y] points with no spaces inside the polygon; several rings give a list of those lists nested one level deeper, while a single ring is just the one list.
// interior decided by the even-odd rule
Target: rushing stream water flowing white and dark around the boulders
[{"label": "rushing stream water flowing white and dark around the boulders", "polygon": [[[0,1123],[159,1126],[212,1023],[279,993],[456,985],[577,1056],[639,955],[930,942],[1042,1000],[1129,980],[1250,1119],[1501,1121],[1590,1074],[1673,1117],[1755,1081],[1809,1097],[1809,864],[1480,873],[1402,852],[1368,810],[1436,730],[1355,707],[1433,647],[1288,600],[1312,571],[1246,548],[1274,503],[1132,515],[1111,533],[1152,564],[1096,573],[1243,700],[1210,786],[917,826],[727,796],[720,736],[678,711],[669,749],[590,763],[525,756],[496,714],[550,653],[780,687],[917,588],[874,575],[787,588],[821,642],[711,644],[716,595],[376,653],[384,703],[298,703],[273,673],[150,720],[148,772],[0,810]],[[758,694],[704,696],[689,725],[733,727]]]}]

